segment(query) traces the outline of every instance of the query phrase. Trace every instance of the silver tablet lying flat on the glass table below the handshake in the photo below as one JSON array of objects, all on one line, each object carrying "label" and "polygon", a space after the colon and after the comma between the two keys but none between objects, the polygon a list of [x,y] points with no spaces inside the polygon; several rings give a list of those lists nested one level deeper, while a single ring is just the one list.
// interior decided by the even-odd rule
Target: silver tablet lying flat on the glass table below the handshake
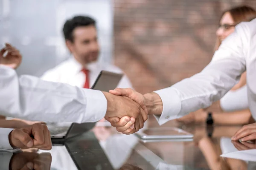
[{"label": "silver tablet lying flat on the glass table below the handshake", "polygon": [[193,135],[177,127],[141,129],[136,133],[141,139],[192,139]]}]

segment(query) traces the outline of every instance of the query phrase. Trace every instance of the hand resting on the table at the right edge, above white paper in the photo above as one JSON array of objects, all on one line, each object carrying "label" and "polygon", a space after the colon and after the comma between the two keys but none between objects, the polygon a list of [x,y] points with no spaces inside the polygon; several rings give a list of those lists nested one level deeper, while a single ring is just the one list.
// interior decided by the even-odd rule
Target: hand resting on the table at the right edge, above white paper
[{"label": "hand resting on the table at the right edge, above white paper", "polygon": [[231,139],[233,141],[241,139],[243,142],[256,139],[256,123],[244,125]]}]

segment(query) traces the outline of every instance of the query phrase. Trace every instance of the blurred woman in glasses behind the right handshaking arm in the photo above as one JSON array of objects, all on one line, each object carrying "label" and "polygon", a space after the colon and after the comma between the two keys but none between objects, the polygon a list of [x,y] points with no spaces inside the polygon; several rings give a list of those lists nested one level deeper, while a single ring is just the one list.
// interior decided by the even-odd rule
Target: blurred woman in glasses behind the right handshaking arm
[{"label": "blurred woman in glasses behind the right handshaking arm", "polygon": [[[238,6],[224,11],[216,31],[215,50],[218,50],[221,42],[235,31],[237,24],[254,18],[256,18],[256,11],[249,6]],[[200,109],[177,120],[185,123],[206,123],[207,117],[212,116],[215,124],[245,125],[252,122],[247,97],[246,71],[241,75],[239,82],[217,103],[223,113],[212,112],[211,108]]]}]

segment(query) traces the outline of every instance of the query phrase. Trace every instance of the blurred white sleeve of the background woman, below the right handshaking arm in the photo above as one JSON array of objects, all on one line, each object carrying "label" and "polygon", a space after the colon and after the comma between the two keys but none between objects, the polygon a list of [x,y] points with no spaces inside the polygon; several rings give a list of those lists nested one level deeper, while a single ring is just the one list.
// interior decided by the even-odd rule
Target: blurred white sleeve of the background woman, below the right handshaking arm
[{"label": "blurred white sleeve of the background woman, below the right handshaking arm", "polygon": [[235,91],[229,91],[220,99],[223,111],[241,111],[249,108],[247,86],[243,86]]}]

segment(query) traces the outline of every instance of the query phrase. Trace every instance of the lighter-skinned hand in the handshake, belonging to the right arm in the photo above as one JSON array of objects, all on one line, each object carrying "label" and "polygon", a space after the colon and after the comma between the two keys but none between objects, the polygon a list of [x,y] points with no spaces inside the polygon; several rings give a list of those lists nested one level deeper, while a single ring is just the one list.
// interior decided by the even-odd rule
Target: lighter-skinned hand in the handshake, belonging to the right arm
[{"label": "lighter-skinned hand in the handshake, belonging to the right arm", "polygon": [[[142,95],[132,90],[131,88],[125,88],[125,89],[116,88],[115,90],[111,90],[109,92],[114,95],[129,97],[130,99],[140,104],[141,108],[143,108],[143,110],[147,114],[160,115],[163,111],[162,100],[160,96],[156,93],[148,93],[148,94]],[[122,118],[120,119],[119,122],[118,122],[118,119],[115,120],[115,118],[105,117],[105,119],[111,122],[111,125],[116,127],[116,130],[119,132],[122,132],[124,134],[132,134],[136,132],[136,130],[134,130],[131,127],[131,121],[128,122],[129,117],[126,117],[127,121],[125,121],[125,119]],[[132,120],[132,117],[131,117],[131,120]]]}]

